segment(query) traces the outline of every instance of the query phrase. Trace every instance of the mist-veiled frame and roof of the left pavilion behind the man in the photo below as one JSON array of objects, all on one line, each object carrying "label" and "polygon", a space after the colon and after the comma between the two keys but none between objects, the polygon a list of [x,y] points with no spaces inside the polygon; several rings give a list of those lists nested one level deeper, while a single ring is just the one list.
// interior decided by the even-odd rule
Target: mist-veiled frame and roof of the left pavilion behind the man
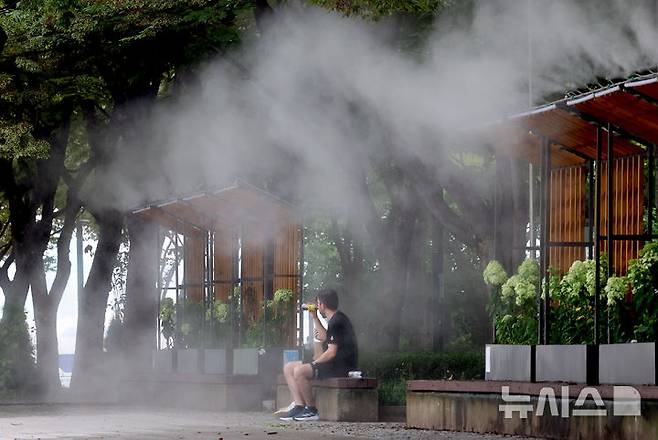
[{"label": "mist-veiled frame and roof of the left pavilion behind the man", "polygon": [[[236,348],[240,346],[243,342],[244,334],[245,334],[245,329],[244,329],[244,316],[243,316],[243,307],[244,307],[244,298],[243,297],[243,292],[242,292],[242,287],[245,282],[257,282],[261,283],[263,285],[263,301],[262,304],[260,305],[262,307],[261,313],[265,313],[265,304],[268,299],[272,299],[272,295],[274,293],[274,280],[275,278],[287,278],[287,277],[296,277],[298,282],[295,283],[296,286],[295,288],[298,289],[298,294],[296,298],[296,304],[294,306],[295,311],[296,311],[296,317],[293,319],[293,326],[296,327],[295,333],[293,333],[293,337],[295,340],[295,343],[299,343],[301,346],[303,344],[303,314],[302,314],[302,309],[301,309],[301,298],[302,298],[302,289],[303,289],[303,278],[302,278],[302,273],[303,273],[303,225],[297,221],[295,221],[297,231],[299,233],[299,248],[295,251],[297,255],[297,263],[295,264],[295,267],[298,270],[298,273],[296,274],[290,274],[290,273],[277,273],[275,269],[275,244],[272,242],[273,238],[268,238],[267,243],[263,243],[263,252],[262,252],[262,261],[261,261],[261,276],[259,277],[253,277],[253,276],[247,276],[245,277],[244,274],[241,273],[240,271],[240,266],[241,266],[241,258],[244,258],[244,255],[240,255],[242,253],[242,245],[244,244],[243,240],[241,240],[242,237],[242,232],[243,232],[243,220],[241,215],[239,214],[234,214],[234,212],[237,210],[240,210],[240,214],[244,214],[246,212],[246,208],[241,208],[237,206],[237,204],[233,204],[228,207],[227,212],[230,212],[232,217],[230,215],[227,215],[226,218],[221,216],[221,213],[218,213],[215,218],[213,212],[210,213],[204,213],[204,216],[201,217],[199,215],[199,212],[197,209],[194,209],[195,207],[198,207],[200,205],[193,205],[194,202],[190,202],[194,199],[199,199],[201,200],[202,197],[206,196],[213,196],[217,193],[221,192],[226,192],[236,189],[236,190],[241,190],[241,191],[250,191],[260,197],[262,200],[267,200],[268,203],[272,204],[272,209],[276,209],[279,211],[286,211],[289,212],[291,215],[291,218],[296,218],[296,211],[292,205],[288,204],[287,202],[284,202],[280,199],[277,199],[276,197],[272,196],[269,193],[266,193],[258,188],[252,187],[251,185],[245,184],[243,182],[236,182],[233,186],[228,187],[228,188],[222,188],[220,190],[216,190],[213,192],[206,192],[202,194],[197,194],[194,196],[189,196],[189,197],[183,197],[183,198],[176,198],[174,200],[168,200],[162,203],[157,203],[157,204],[151,204],[148,205],[147,207],[135,209],[132,211],[133,215],[143,215],[145,219],[154,221],[158,224],[158,232],[156,234],[156,246],[158,247],[158,252],[157,252],[157,280],[156,280],[156,291],[157,291],[157,304],[158,304],[158,311],[161,308],[161,297],[163,296],[163,290],[172,290],[175,291],[175,296],[176,296],[176,314],[177,314],[177,319],[176,319],[176,332],[181,331],[181,324],[185,320],[185,317],[183,316],[184,311],[182,310],[182,302],[184,299],[188,297],[188,289],[196,289],[199,288],[201,292],[201,297],[200,301],[203,304],[203,308],[206,311],[209,311],[209,313],[212,315],[214,311],[214,305],[216,301],[216,294],[219,292],[218,288],[219,286],[226,286],[227,284],[230,286],[233,286],[232,288],[229,289],[229,295],[232,298],[231,302],[229,303],[229,328],[231,331],[229,332],[228,339],[225,341],[225,346],[226,348]],[[213,200],[213,203],[217,203],[219,200]],[[221,201],[220,201],[221,202]],[[190,209],[190,216],[186,217],[186,213],[184,211],[177,211],[177,207],[183,206],[185,208]],[[267,210],[267,206],[265,206],[263,209]],[[194,216],[192,216],[192,213]],[[259,212],[259,215],[262,216],[263,223],[272,221],[273,214],[272,212]],[[199,224],[200,222],[194,221],[193,218],[196,217],[198,220],[199,218],[203,218],[203,224]],[[247,223],[254,223],[256,224],[256,221],[254,220],[247,220]],[[235,244],[235,249],[231,251],[231,266],[232,268],[230,269],[232,276],[231,279],[223,279],[223,278],[217,278],[215,275],[215,231],[214,231],[214,226],[215,224],[221,224],[222,228],[224,229],[224,232],[230,231],[229,235],[231,236],[230,241]],[[168,229],[173,232],[173,246],[174,246],[174,268],[173,268],[173,278],[174,278],[174,285],[173,286],[163,286],[163,280],[161,279],[161,269],[162,269],[162,264],[163,264],[163,258],[161,255],[162,252],[162,240],[163,240],[163,234],[162,230],[163,229]],[[245,231],[246,232],[246,231]],[[187,235],[190,233],[194,234],[199,234],[202,237],[203,243],[202,243],[202,250],[203,250],[203,256],[202,256],[202,261],[203,261],[203,267],[202,267],[202,279],[200,282],[190,282],[188,278],[188,274],[185,272],[184,275],[181,276],[180,273],[180,266],[181,262],[186,261],[186,240],[187,240]],[[182,236],[182,238],[181,238]],[[241,244],[242,243],[242,244]],[[271,248],[271,249],[270,249]],[[270,255],[271,254],[271,255]],[[228,255],[228,254],[227,254]],[[267,261],[268,258],[272,261]],[[271,271],[268,271],[268,268],[271,269]],[[186,269],[184,269],[186,270]],[[271,272],[271,273],[270,273]],[[196,280],[195,280],[196,281]],[[269,290],[268,290],[269,286]],[[235,290],[235,287],[238,287],[240,289],[240,294],[239,295],[234,295],[233,292]],[[236,308],[240,307],[240,316],[235,316],[236,315]],[[265,319],[263,321],[263,326],[265,326]],[[160,329],[161,329],[161,318],[160,318],[160,313],[158,312],[157,316],[157,328],[156,330],[156,335],[157,335],[157,348],[161,349],[162,347],[162,341],[161,341],[161,334],[160,334]],[[265,327],[263,327],[263,330]],[[291,329],[292,330],[292,329]],[[210,327],[207,327],[205,325],[205,322],[202,322],[201,324],[201,336],[202,336],[202,345],[203,348],[213,348],[213,345],[216,345],[218,341],[212,341],[212,335],[214,333],[212,332],[213,329]],[[177,339],[174,339],[174,348],[179,348],[177,346]],[[267,340],[266,340],[266,335],[265,331],[263,331],[263,341],[262,341],[263,346],[266,346]],[[229,352],[231,350],[227,350]]]}]

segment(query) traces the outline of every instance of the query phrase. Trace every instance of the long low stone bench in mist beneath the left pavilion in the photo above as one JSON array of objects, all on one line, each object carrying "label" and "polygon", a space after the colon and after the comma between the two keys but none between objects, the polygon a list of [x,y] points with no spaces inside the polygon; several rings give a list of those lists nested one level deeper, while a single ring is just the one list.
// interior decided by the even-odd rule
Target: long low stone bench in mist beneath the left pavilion
[{"label": "long low stone bench in mist beneath the left pavilion", "polygon": [[144,374],[120,383],[119,401],[210,411],[255,411],[261,407],[258,376],[237,374]]}]

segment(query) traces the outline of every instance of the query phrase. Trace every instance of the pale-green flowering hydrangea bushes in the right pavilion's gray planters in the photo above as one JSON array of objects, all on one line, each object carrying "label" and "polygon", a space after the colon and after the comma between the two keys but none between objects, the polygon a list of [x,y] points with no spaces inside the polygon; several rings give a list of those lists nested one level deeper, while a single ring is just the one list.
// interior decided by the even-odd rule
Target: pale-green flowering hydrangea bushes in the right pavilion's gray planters
[{"label": "pale-green flowering hydrangea bushes in the right pavilion's gray planters", "polygon": [[[599,334],[612,342],[655,341],[658,334],[658,243],[648,243],[637,260],[631,260],[627,276],[606,277],[607,256],[601,255]],[[549,271],[551,344],[594,342],[594,294],[596,263],[574,261],[567,273]],[[489,312],[496,327],[496,342],[534,344],[537,339],[537,286],[539,267],[524,261],[507,278],[502,265],[492,261],[484,279],[491,286]],[[541,281],[542,284],[544,280]],[[544,289],[542,288],[542,298]],[[632,295],[628,295],[632,292]],[[628,298],[632,298],[630,301]],[[605,337],[605,336],[604,336]]]}]

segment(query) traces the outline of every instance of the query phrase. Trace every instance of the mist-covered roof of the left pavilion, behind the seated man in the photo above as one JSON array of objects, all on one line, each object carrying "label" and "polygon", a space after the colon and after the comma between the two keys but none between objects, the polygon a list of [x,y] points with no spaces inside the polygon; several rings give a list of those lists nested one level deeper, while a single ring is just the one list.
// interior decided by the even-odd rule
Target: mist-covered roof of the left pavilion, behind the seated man
[{"label": "mist-covered roof of the left pavilion, behind the seated man", "polygon": [[199,233],[218,225],[298,222],[294,207],[271,193],[245,182],[181,197],[160,200],[132,210],[133,215],[180,233]]}]

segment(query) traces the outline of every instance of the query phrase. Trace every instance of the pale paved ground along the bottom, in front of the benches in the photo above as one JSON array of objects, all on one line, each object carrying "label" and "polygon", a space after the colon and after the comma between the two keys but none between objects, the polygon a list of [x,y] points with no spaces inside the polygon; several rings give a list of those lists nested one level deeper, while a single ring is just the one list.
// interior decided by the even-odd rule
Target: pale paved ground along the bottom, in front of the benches
[{"label": "pale paved ground along the bottom, in front of the benches", "polygon": [[282,423],[264,413],[71,405],[0,405],[0,439],[341,440],[504,439],[406,429],[401,423]]}]

